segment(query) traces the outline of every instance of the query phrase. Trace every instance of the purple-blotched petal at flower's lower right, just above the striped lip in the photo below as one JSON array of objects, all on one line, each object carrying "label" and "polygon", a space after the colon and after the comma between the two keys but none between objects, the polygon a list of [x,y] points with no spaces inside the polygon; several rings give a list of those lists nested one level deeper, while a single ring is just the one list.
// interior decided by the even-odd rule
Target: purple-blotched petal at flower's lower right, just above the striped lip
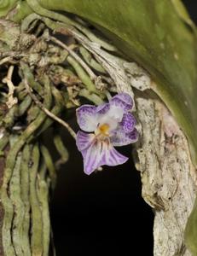
[{"label": "purple-blotched petal at flower's lower right, just above the striped lip", "polygon": [[136,143],[138,140],[138,132],[136,129],[128,133],[124,131],[117,131],[112,137],[110,137],[110,142],[114,147],[125,146],[130,143]]}]

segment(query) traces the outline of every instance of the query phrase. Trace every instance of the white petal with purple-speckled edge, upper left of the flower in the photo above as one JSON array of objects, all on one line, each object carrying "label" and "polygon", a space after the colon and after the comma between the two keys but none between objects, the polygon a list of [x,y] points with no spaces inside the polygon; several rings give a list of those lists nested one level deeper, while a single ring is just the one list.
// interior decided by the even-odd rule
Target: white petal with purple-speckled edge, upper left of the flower
[{"label": "white petal with purple-speckled edge, upper left of the flower", "polygon": [[78,125],[83,131],[95,131],[98,125],[96,107],[83,105],[76,110]]}]

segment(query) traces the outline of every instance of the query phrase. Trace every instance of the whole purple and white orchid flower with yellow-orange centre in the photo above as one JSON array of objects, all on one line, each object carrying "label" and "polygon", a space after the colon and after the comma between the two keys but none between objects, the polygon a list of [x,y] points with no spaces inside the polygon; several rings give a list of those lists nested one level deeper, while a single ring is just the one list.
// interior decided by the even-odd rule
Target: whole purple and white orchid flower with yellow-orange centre
[{"label": "whole purple and white orchid flower with yellow-orange centre", "polygon": [[118,166],[128,160],[113,146],[135,143],[138,138],[136,119],[130,113],[132,106],[132,98],[120,93],[101,106],[83,105],[77,109],[78,125],[83,131],[78,131],[76,143],[86,174],[100,166]]}]

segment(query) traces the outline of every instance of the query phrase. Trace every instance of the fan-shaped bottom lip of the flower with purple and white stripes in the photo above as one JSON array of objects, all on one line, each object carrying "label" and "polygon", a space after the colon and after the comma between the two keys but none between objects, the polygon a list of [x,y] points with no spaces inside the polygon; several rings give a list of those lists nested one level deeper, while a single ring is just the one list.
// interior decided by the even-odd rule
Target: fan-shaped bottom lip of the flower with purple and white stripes
[{"label": "fan-shaped bottom lip of the flower with purple and white stripes", "polygon": [[94,140],[89,148],[82,150],[84,158],[84,173],[90,175],[99,166],[118,166],[128,160],[113,148],[109,141]]}]

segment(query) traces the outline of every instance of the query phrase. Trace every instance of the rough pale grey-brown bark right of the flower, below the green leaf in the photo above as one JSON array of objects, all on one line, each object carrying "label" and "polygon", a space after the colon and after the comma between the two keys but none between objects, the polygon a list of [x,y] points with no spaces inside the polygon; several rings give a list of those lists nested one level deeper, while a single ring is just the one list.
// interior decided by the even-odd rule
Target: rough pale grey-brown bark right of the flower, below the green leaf
[{"label": "rough pale grey-brown bark right of the flower, below the green leaf", "polygon": [[154,255],[191,255],[183,234],[194,206],[196,179],[188,143],[158,99],[136,97],[141,141],[136,146],[142,196],[154,208]]}]

